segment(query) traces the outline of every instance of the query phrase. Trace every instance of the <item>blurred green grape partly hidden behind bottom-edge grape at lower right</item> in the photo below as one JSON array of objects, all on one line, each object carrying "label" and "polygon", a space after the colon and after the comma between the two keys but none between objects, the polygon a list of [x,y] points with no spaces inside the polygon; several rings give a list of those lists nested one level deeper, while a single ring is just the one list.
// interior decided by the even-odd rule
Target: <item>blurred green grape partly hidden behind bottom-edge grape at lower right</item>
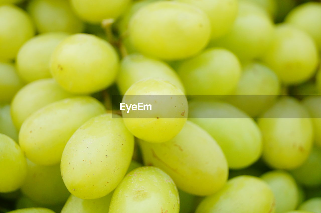
[{"label": "blurred green grape partly hidden behind bottom-edge grape at lower right", "polygon": [[275,198],[275,213],[296,209],[299,202],[299,190],[294,178],[285,171],[266,172],[261,178],[270,186]]}]

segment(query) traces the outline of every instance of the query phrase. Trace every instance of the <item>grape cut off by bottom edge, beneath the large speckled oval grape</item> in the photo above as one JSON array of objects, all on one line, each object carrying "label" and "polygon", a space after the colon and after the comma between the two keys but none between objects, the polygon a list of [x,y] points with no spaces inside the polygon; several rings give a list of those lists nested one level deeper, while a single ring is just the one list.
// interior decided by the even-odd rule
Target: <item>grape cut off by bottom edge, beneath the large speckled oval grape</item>
[{"label": "grape cut off by bottom edge, beneath the large speckled oval grape", "polygon": [[61,213],[108,213],[111,196],[113,193],[98,198],[85,200],[70,195]]}]

